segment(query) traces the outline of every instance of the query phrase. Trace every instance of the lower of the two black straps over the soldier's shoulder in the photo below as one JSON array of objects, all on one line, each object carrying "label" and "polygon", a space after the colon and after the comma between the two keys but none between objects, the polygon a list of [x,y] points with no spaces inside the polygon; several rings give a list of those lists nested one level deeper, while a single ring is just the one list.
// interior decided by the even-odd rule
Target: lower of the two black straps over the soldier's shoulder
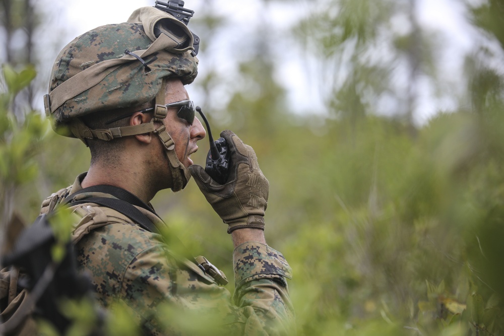
[{"label": "lower of the two black straps over the soldier's shoulder", "polygon": [[75,206],[85,203],[94,203],[103,207],[113,209],[123,214],[124,216],[127,216],[130,219],[132,219],[141,228],[149,232],[160,233],[158,228],[156,228],[156,226],[151,222],[149,218],[147,218],[147,216],[142,214],[140,210],[138,210],[132,204],[128,203],[125,200],[110,197],[88,197],[86,199],[76,200],[73,202],[71,201],[69,203],[69,206]]}]

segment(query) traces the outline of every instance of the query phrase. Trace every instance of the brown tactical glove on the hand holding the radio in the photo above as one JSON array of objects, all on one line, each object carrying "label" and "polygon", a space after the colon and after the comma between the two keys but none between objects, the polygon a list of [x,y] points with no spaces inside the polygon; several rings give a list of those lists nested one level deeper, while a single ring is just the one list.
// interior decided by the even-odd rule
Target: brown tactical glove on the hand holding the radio
[{"label": "brown tactical glove on the hand holding the radio", "polygon": [[231,160],[226,183],[217,183],[198,165],[189,167],[191,175],[208,203],[229,225],[228,233],[243,228],[264,230],[270,184],[259,168],[256,153],[230,130],[220,136],[227,142]]}]

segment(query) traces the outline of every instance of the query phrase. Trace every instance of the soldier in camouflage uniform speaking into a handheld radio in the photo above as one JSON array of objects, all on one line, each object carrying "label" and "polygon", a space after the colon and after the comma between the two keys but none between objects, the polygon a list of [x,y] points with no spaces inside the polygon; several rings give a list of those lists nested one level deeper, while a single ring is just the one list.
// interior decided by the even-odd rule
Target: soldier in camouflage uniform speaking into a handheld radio
[{"label": "soldier in camouflage uniform speaking into a handheld radio", "polygon": [[[292,271],[266,243],[269,181],[254,150],[221,133],[230,154],[223,184],[191,160],[206,137],[184,87],[197,76],[193,44],[184,23],[145,7],[61,50],[45,112],[57,133],[89,147],[91,162],[43,201],[41,213],[68,205],[79,270],[100,305],[125,307],[141,334],[294,334]],[[194,258],[150,204],[159,190],[180,191],[191,178],[233,241],[233,295],[226,276]],[[103,198],[127,200],[154,228],[96,203]]]}]

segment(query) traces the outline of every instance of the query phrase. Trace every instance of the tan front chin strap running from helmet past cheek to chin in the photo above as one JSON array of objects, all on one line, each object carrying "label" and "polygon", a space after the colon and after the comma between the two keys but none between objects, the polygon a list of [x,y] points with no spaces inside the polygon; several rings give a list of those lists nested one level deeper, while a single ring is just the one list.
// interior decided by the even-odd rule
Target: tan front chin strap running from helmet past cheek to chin
[{"label": "tan front chin strap running from helmet past cheek to chin", "polygon": [[171,177],[172,177],[172,187],[171,190],[173,191],[180,191],[189,182],[191,179],[191,173],[189,172],[189,169],[187,169],[179,160],[177,157],[177,153],[175,152],[175,143],[173,142],[173,139],[171,139],[171,136],[169,133],[166,131],[166,127],[164,124],[162,124],[163,119],[166,118],[166,115],[168,114],[168,109],[165,106],[165,80],[163,79],[163,84],[161,85],[161,90],[159,90],[158,94],[156,95],[156,106],[154,109],[154,121],[160,121],[161,126],[156,128],[154,130],[154,133],[157,133],[159,140],[161,140],[161,143],[164,146],[164,149],[166,151],[166,157],[168,158],[168,167],[171,171]]}]

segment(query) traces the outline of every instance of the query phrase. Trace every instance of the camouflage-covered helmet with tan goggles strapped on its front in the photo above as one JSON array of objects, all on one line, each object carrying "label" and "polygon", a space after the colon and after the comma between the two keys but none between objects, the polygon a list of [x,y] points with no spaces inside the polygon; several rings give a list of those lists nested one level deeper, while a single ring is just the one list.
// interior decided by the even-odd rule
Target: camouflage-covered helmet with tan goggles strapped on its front
[{"label": "camouflage-covered helmet with tan goggles strapped on its front", "polygon": [[198,66],[193,49],[182,22],[153,7],[138,9],[128,22],[90,30],[60,51],[45,113],[57,133],[81,138],[68,127],[75,118],[152,101],[168,77],[192,83]]}]

